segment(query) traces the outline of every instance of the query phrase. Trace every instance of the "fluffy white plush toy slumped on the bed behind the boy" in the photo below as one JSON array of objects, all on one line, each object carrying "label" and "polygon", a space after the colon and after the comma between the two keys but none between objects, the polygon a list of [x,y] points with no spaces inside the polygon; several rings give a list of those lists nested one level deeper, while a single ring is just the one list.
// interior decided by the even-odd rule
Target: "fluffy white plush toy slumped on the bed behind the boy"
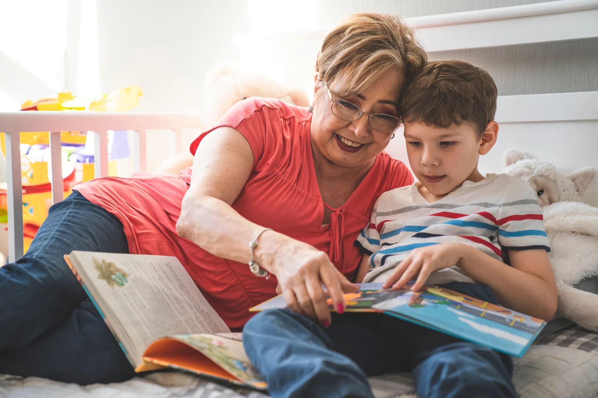
[{"label": "fluffy white plush toy slumped on the bed behind the boy", "polygon": [[[582,199],[598,180],[587,167],[566,175],[529,153],[505,152],[504,172],[523,178],[536,191],[550,240],[548,253],[559,290],[558,313],[598,332],[598,286],[584,291],[578,283],[598,276],[598,208]],[[598,285],[598,279],[593,280]]]}]

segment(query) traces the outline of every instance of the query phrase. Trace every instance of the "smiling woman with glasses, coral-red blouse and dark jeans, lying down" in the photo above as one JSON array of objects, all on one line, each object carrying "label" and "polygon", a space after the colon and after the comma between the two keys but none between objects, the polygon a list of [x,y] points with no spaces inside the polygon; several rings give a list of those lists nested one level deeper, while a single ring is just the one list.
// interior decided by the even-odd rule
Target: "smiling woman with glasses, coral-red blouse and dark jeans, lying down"
[{"label": "smiling woman with glasses, coral-red blouse and dark jeans, lying down", "polygon": [[277,283],[289,307],[328,326],[321,284],[342,312],[374,202],[413,182],[382,151],[401,87],[425,60],[397,17],[356,14],[324,40],[313,108],[250,98],[191,144],[193,166],[178,176],[77,186],[25,256],[0,268],[0,373],[80,384],[134,375],[63,261],[75,249],[176,255],[231,329]]}]

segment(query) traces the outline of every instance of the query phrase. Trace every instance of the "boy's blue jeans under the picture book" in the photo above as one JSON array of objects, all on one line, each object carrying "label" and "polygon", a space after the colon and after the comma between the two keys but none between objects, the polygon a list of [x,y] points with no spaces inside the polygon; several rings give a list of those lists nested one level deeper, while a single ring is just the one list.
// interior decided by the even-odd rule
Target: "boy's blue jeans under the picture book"
[{"label": "boy's blue jeans under the picture book", "polygon": [[[486,285],[442,286],[496,303]],[[395,372],[412,372],[421,398],[517,397],[508,355],[386,314],[332,313],[325,329],[264,311],[245,325],[243,344],[274,398],[371,398],[367,377]]]}]

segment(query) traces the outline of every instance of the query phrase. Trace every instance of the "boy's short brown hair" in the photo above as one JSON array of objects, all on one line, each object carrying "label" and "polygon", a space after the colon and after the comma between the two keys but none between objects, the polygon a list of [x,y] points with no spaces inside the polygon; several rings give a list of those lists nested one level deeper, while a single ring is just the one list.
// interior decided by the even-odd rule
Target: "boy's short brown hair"
[{"label": "boy's short brown hair", "polygon": [[498,92],[486,70],[463,61],[426,63],[401,97],[406,122],[447,128],[470,123],[481,137],[496,113]]}]

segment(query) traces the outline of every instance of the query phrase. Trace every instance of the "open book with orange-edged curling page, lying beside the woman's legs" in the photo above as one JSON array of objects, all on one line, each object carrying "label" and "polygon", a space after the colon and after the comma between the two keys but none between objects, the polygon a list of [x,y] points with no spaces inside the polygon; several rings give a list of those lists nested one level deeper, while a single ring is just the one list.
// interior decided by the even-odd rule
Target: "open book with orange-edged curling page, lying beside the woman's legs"
[{"label": "open book with orange-edged curling page, lying beside the woman's legs", "polygon": [[65,260],[136,372],[170,367],[266,389],[176,257],[72,251]]}]

